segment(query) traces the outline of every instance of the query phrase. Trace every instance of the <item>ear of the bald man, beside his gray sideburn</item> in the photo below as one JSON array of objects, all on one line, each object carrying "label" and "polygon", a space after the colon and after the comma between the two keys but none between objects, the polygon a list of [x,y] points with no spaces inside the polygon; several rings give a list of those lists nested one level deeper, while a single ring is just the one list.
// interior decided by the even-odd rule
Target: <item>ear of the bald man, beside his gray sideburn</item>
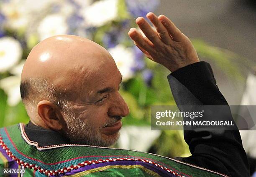
[{"label": "ear of the bald man, beside his gray sideburn", "polygon": [[38,102],[36,111],[47,128],[58,132],[63,128],[63,116],[57,105],[50,101],[42,100]]}]

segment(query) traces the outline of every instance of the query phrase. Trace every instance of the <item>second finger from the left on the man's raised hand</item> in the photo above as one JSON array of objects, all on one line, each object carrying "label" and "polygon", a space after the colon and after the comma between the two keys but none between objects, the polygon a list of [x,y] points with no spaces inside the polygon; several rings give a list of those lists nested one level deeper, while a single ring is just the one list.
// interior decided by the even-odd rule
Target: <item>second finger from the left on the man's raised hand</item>
[{"label": "second finger from the left on the man's raised hand", "polygon": [[135,22],[152,43],[159,44],[161,42],[156,32],[143,17],[138,17]]}]

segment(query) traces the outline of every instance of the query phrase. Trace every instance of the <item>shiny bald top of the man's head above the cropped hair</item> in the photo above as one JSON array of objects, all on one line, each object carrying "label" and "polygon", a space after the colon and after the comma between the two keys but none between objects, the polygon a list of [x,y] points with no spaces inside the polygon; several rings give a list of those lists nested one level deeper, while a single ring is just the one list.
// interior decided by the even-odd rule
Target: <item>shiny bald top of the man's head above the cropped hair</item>
[{"label": "shiny bald top of the man's head above the cropped hair", "polygon": [[70,89],[74,79],[79,79],[77,76],[82,73],[90,75],[111,60],[108,51],[91,40],[58,35],[33,47],[23,67],[21,80],[43,78],[51,80],[55,87]]}]

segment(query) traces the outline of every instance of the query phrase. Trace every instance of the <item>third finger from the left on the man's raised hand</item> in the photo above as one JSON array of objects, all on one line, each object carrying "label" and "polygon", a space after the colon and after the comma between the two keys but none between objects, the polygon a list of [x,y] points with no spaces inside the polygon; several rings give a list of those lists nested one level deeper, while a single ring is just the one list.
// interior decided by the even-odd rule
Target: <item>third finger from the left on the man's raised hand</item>
[{"label": "third finger from the left on the man's raised hand", "polygon": [[156,17],[156,15],[152,12],[149,12],[147,14],[147,17],[153,23],[156,31],[159,33],[161,40],[166,44],[170,44],[172,42],[172,38],[170,37],[164,25],[158,19],[158,17]]}]

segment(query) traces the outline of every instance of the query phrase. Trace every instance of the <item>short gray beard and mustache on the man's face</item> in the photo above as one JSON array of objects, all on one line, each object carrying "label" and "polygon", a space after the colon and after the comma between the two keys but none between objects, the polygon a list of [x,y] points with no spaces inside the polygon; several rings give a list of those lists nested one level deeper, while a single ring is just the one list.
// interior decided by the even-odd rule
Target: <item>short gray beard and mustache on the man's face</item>
[{"label": "short gray beard and mustache on the man's face", "polygon": [[[91,145],[100,147],[109,147],[117,142],[120,132],[114,135],[100,134],[100,130],[90,125],[89,121],[84,122],[73,115],[65,115],[67,130],[64,136],[72,143],[79,145]],[[111,125],[116,120],[111,120],[107,125]]]}]

